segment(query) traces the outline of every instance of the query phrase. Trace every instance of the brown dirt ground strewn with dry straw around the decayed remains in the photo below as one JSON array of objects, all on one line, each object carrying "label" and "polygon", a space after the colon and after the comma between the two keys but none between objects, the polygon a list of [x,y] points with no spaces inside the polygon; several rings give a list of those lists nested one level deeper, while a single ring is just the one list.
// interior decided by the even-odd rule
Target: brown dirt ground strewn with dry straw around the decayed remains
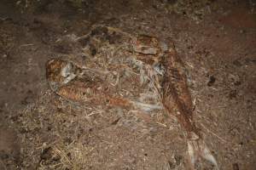
[{"label": "brown dirt ground strewn with dry straw around the decayed remains", "polygon": [[172,41],[218,166],[255,169],[256,2],[16,2],[0,1],[0,169],[187,169],[174,117],[85,111],[49,89],[45,63],[73,53],[56,41],[96,24]]}]

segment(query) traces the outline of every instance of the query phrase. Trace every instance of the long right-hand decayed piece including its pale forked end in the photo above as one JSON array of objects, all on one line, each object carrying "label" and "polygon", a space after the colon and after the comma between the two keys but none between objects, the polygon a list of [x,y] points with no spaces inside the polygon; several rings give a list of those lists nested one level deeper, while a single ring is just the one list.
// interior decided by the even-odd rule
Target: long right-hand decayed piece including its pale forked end
[{"label": "long right-hand decayed piece including its pale forked end", "polygon": [[176,51],[170,48],[162,63],[165,66],[162,102],[166,110],[177,117],[187,132],[191,168],[194,169],[196,160],[204,158],[218,169],[217,161],[202,139],[200,130],[195,126],[192,99],[181,59],[177,57]]}]

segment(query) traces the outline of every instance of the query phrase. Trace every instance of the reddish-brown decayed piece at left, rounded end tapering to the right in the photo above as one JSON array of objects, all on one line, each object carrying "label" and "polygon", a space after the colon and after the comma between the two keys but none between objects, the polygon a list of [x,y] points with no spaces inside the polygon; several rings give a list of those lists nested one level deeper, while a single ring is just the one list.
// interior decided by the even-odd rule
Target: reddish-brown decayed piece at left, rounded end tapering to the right
[{"label": "reddish-brown decayed piece at left, rounded end tapering to the right", "polygon": [[114,95],[115,88],[101,77],[93,76],[66,59],[50,59],[46,72],[50,88],[68,101],[87,105],[131,105],[128,99]]}]

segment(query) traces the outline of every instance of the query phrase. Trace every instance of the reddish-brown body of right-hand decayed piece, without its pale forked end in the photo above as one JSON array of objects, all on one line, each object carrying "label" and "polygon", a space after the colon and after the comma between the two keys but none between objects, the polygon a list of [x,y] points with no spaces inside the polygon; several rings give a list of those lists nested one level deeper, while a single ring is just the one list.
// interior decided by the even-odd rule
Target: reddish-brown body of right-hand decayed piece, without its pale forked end
[{"label": "reddish-brown body of right-hand decayed piece, without its pale forked end", "polygon": [[162,63],[166,69],[162,82],[163,105],[177,117],[186,131],[199,135],[193,121],[193,104],[182,61],[174,49],[170,49]]}]

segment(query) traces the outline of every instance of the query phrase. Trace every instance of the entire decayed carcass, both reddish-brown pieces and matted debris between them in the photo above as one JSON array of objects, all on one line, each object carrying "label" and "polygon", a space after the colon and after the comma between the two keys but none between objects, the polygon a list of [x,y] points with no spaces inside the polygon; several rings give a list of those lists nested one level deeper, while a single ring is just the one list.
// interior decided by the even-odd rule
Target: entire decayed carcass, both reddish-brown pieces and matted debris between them
[{"label": "entire decayed carcass, both reddish-brown pieces and matted debris between them", "polygon": [[84,58],[67,55],[46,65],[49,87],[78,104],[151,113],[166,111],[185,129],[190,167],[204,158],[218,169],[193,120],[186,72],[176,51],[155,37],[131,36],[119,29],[95,26],[84,37]]}]

